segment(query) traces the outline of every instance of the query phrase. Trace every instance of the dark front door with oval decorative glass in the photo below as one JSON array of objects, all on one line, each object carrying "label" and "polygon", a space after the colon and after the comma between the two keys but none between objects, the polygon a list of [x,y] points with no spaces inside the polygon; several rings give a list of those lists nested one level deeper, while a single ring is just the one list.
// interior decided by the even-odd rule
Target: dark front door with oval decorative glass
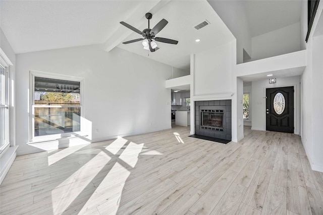
[{"label": "dark front door with oval decorative glass", "polygon": [[266,89],[266,130],[294,133],[294,87]]}]

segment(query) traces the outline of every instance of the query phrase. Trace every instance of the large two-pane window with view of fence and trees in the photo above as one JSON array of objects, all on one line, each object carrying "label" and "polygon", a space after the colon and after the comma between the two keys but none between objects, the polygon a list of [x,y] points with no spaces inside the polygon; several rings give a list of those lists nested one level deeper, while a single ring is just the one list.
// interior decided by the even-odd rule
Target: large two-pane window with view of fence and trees
[{"label": "large two-pane window with view of fence and trees", "polygon": [[[81,130],[81,82],[32,75],[32,141]],[[48,136],[50,135],[50,136]],[[40,138],[41,137],[41,138]]]}]

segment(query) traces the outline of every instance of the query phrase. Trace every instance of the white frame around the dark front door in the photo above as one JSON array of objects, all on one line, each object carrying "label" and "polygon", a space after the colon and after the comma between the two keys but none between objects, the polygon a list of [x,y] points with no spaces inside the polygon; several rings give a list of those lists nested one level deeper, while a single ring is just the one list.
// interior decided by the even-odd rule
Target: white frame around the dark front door
[{"label": "white frame around the dark front door", "polygon": [[266,130],[266,89],[271,89],[271,88],[280,88],[280,87],[294,87],[294,134],[299,134],[300,130],[299,130],[299,125],[298,125],[298,121],[300,121],[300,116],[297,117],[297,114],[300,115],[300,112],[298,110],[298,106],[297,103],[300,102],[297,99],[297,93],[298,93],[298,89],[297,89],[297,85],[293,84],[293,85],[275,85],[275,86],[265,86],[263,87],[263,104],[262,104],[262,113],[263,113],[263,128],[264,130]]}]

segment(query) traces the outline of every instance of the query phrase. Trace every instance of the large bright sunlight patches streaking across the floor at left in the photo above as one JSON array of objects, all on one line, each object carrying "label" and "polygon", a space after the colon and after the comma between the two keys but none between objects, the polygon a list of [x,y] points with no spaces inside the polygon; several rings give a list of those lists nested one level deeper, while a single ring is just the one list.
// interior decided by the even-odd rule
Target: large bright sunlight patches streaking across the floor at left
[{"label": "large bright sunlight patches streaking across the floor at left", "polygon": [[[93,212],[93,208],[96,207],[101,214],[116,214],[120,205],[124,185],[131,173],[129,169],[136,166],[138,156],[141,153],[144,155],[162,155],[157,151],[144,148],[143,143],[135,144],[135,142],[130,142],[125,147],[127,142],[127,139],[119,137],[109,146],[105,147],[106,151],[101,151],[73,173],[73,175],[53,189],[51,191],[53,214],[62,213],[68,209],[82,191],[89,186],[102,168],[111,162],[111,154],[117,156],[120,153],[118,158],[120,160],[114,159],[114,162],[116,163],[113,165],[112,169],[105,175],[99,186],[87,199],[86,203],[81,208],[81,211],[79,211],[80,214],[87,214]],[[125,149],[122,151],[123,148]],[[81,148],[79,147],[78,149]],[[77,151],[76,148],[70,148],[70,150],[67,150],[66,152],[72,154],[73,150],[74,152]],[[56,157],[52,157],[50,162],[57,162],[59,158],[62,159],[63,155],[66,155],[66,152],[62,154],[57,153],[58,155],[54,154]]]}]

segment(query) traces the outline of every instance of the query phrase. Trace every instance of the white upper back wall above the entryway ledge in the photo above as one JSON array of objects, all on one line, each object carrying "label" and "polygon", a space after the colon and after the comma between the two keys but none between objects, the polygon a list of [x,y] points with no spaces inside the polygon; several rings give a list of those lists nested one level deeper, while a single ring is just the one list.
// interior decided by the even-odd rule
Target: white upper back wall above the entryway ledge
[{"label": "white upper back wall above the entryway ledge", "polygon": [[300,22],[251,38],[251,60],[301,50]]}]

